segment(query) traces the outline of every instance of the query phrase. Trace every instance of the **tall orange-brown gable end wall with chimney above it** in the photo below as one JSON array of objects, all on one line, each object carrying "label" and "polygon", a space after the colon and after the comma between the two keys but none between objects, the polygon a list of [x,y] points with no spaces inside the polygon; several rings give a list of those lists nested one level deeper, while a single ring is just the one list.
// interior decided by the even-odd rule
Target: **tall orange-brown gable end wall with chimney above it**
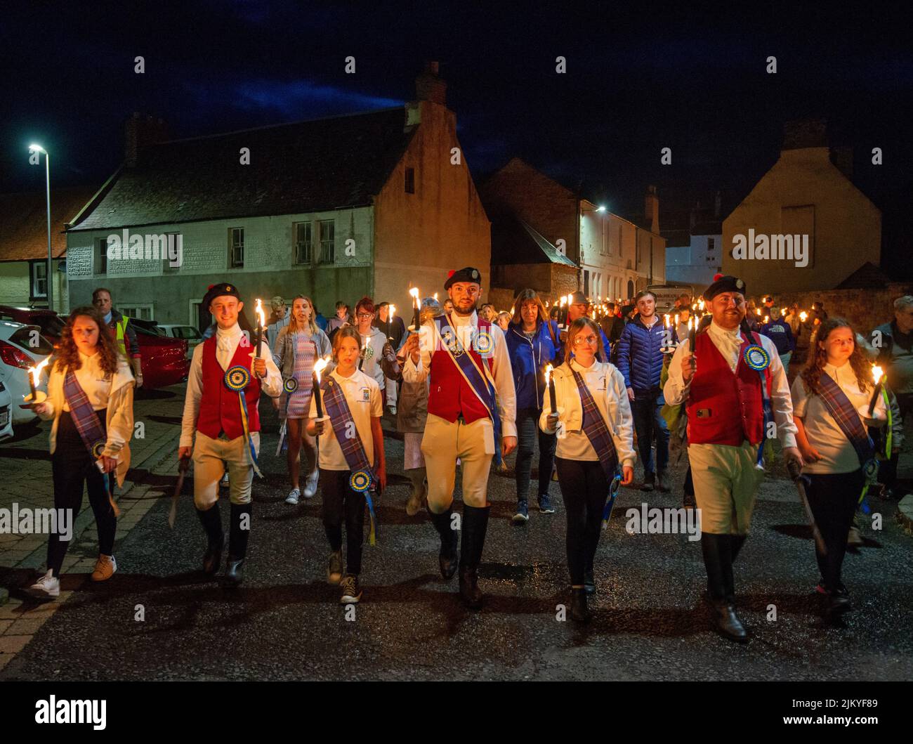
[{"label": "tall orange-brown gable end wall with chimney above it", "polygon": [[[476,267],[483,297],[491,286],[491,223],[462,148],[451,164],[451,149],[460,147],[456,116],[427,100],[410,106],[421,123],[374,203],[373,296],[404,313],[411,286],[443,300],[450,270]],[[415,169],[415,194],[404,190],[407,167]]]}]

